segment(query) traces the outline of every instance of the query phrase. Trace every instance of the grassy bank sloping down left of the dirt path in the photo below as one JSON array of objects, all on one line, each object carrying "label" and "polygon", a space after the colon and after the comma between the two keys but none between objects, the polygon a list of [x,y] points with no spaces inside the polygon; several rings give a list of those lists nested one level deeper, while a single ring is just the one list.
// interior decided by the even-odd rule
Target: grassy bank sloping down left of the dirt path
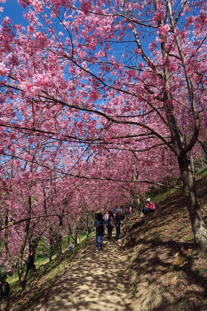
[{"label": "grassy bank sloping down left of the dirt path", "polygon": [[[9,300],[9,309],[15,311],[24,310],[33,310],[34,304],[43,302],[45,304],[45,298],[49,297],[52,299],[56,294],[56,288],[54,287],[56,282],[60,280],[65,280],[65,275],[69,276],[73,271],[76,262],[81,259],[81,251],[83,248],[86,248],[86,244],[89,239],[93,237],[94,233],[91,234],[88,238],[85,237],[74,249],[71,251],[65,250],[60,258],[54,257],[52,262],[49,262],[48,259],[43,261],[44,270],[39,270],[36,274],[29,272],[27,278],[27,288],[22,292],[19,279],[13,279],[13,282],[10,282],[11,285],[11,296]],[[67,267],[67,271],[66,268]],[[66,273],[65,273],[66,272]],[[12,278],[12,276],[11,276]],[[32,290],[31,290],[32,289]],[[5,307],[4,303],[2,308]]]}]

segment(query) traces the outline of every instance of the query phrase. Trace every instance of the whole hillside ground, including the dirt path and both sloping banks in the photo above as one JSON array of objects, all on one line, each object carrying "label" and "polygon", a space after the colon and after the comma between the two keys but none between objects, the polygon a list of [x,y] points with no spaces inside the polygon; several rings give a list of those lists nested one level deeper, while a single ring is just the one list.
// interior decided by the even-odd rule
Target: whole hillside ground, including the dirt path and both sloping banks
[{"label": "whole hillside ground, including the dirt path and both sloping banks", "polygon": [[[200,176],[197,188],[207,223],[206,177]],[[24,292],[18,281],[12,284],[0,310],[206,311],[207,258],[193,251],[183,193],[170,189],[151,198],[155,213],[140,218],[133,211],[124,221],[120,238],[129,235],[122,247],[105,238],[103,251],[93,252],[92,235],[29,273]],[[131,233],[140,220],[145,223]]]}]

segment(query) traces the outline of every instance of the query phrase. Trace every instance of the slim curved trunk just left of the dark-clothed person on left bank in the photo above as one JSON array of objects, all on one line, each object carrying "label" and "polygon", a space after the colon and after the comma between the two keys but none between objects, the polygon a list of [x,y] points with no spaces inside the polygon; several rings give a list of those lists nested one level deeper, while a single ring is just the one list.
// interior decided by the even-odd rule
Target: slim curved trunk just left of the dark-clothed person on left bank
[{"label": "slim curved trunk just left of the dark-clothed person on left bank", "polygon": [[24,235],[23,235],[22,244],[21,244],[21,248],[20,248],[20,252],[19,252],[18,264],[17,264],[19,281],[20,281],[21,288],[23,290],[25,290],[26,281],[25,281],[25,276],[23,274],[23,270],[22,270],[22,258],[23,258],[23,255],[24,255],[25,245],[26,245],[26,242],[27,242],[27,235],[28,235],[28,232],[29,232],[31,208],[32,208],[32,200],[31,200],[31,196],[29,196],[28,197],[28,213],[27,213],[27,218],[29,218],[29,219],[26,221],[25,232],[24,232]]}]

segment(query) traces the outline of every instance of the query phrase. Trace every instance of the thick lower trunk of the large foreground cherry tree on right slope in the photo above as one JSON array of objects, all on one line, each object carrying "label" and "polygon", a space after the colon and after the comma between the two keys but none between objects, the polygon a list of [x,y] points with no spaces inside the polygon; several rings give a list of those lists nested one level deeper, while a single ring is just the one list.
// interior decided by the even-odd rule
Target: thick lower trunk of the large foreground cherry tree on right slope
[{"label": "thick lower trunk of the large foreground cherry tree on right slope", "polygon": [[200,211],[190,159],[185,155],[178,159],[178,163],[196,248],[199,252],[205,252],[207,251],[207,230]]}]

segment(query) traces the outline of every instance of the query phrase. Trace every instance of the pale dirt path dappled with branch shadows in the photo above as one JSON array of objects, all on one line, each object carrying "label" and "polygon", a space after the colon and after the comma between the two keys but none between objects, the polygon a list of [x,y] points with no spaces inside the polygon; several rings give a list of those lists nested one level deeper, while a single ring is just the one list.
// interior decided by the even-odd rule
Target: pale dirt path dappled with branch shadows
[{"label": "pale dirt path dappled with branch shadows", "polygon": [[136,311],[128,283],[128,264],[121,248],[106,241],[95,252],[89,242],[79,267],[74,269],[60,295],[47,311]]}]

